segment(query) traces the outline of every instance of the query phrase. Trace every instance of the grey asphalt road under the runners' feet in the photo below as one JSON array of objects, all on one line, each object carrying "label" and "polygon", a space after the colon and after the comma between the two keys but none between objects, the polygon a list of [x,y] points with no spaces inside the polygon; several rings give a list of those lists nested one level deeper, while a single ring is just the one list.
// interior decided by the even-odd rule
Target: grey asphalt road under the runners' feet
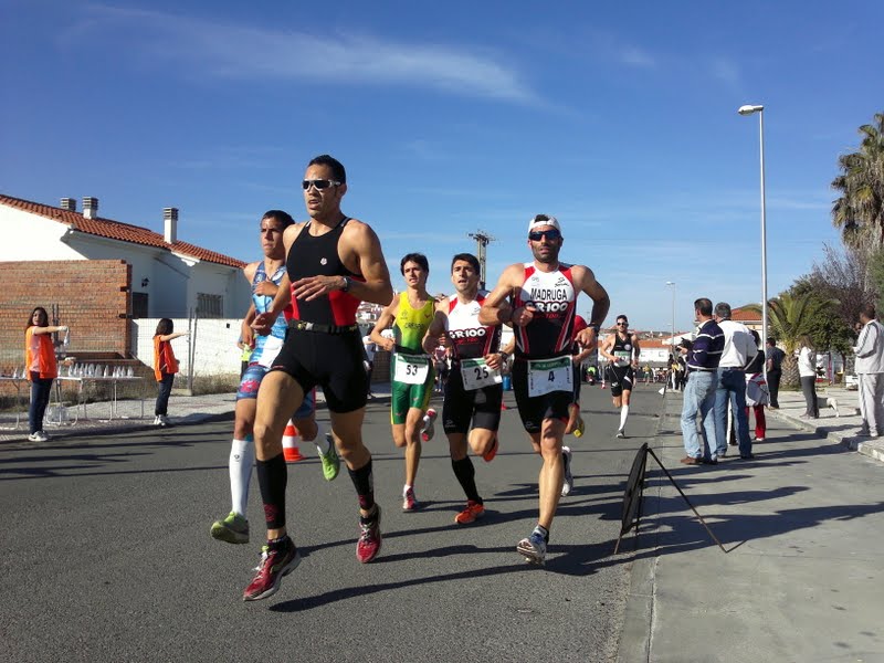
[{"label": "grey asphalt road under the runners' feet", "polygon": [[474,459],[488,511],[471,526],[453,522],[464,497],[441,430],[419,475],[427,507],[400,511],[401,452],[386,403],[369,406],[365,438],[385,509],[370,565],[355,557],[349,477],[326,483],[315,450],[302,449],[308,460],[288,471],[288,520],[305,559],[278,593],[253,603],[241,596],[264,534],[256,480],[252,544],[209,537],[230,511],[230,422],[1,449],[0,660],[611,661],[630,573],[629,557],[612,556],[622,491],[634,451],[656,430],[660,396],[639,389],[630,438],[615,440],[610,393],[585,387],[587,434],[567,440],[576,487],[543,568],[515,552],[536,523],[539,459],[512,392],[506,402],[501,452],[490,464]]}]

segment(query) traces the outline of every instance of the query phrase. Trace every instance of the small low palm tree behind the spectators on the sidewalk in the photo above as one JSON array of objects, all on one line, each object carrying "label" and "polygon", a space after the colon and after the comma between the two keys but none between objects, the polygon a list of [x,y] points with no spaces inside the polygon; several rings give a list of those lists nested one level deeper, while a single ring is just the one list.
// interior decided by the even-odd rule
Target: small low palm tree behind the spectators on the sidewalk
[{"label": "small low palm tree behind the spectators on the sidewalk", "polygon": [[[798,358],[794,356],[799,341],[802,336],[809,333],[811,320],[833,303],[831,299],[820,299],[812,292],[800,295],[792,295],[786,292],[768,302],[770,336],[777,339],[777,343],[780,344],[780,347],[786,352],[782,358],[782,379],[780,382],[783,387],[798,387],[800,385]],[[761,313],[759,304],[749,304],[743,308],[757,314]]]}]

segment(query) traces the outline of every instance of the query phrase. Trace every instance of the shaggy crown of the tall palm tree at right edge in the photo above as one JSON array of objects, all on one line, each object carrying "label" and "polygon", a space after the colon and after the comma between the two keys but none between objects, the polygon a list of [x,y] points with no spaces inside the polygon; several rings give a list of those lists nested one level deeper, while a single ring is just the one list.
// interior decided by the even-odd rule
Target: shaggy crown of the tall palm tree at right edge
[{"label": "shaggy crown of the tall palm tree at right edge", "polygon": [[841,175],[832,188],[841,197],[832,204],[832,223],[851,246],[884,246],[884,113],[860,127],[860,150],[838,159]]}]

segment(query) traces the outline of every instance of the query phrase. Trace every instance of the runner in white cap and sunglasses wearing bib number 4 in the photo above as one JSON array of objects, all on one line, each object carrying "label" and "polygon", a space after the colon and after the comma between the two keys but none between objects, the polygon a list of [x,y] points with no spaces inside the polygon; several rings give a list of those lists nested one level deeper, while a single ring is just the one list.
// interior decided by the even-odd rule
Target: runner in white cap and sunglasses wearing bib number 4
[{"label": "runner in white cap and sunglasses wearing bib number 4", "polygon": [[585,348],[596,347],[599,326],[611,306],[592,270],[559,262],[562,242],[561,227],[555,217],[534,217],[528,222],[528,248],[534,261],[509,265],[478,314],[483,325],[513,325],[516,403],[534,451],[544,461],[538,523],[516,546],[532,564],[543,564],[546,558],[549,528],[562,488],[571,483],[566,483],[570,475],[570,451],[562,449],[561,440],[573,399],[570,352],[577,297],[582,292],[592,299],[589,325],[576,338]]}]

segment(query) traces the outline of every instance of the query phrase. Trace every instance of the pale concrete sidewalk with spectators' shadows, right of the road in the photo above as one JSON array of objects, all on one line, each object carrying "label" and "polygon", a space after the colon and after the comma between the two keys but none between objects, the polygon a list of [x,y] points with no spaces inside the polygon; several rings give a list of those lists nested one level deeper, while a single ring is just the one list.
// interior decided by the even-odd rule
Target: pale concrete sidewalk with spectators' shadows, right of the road
[{"label": "pale concrete sidewalk with spectators' shadows, right of the road", "polygon": [[620,662],[884,661],[884,465],[846,448],[855,392],[825,394],[841,418],[804,424],[803,399],[783,392],[755,460],[732,446],[696,467],[678,462],[682,399],[666,394],[652,449],[727,552],[649,457],[639,536],[621,545]]}]

